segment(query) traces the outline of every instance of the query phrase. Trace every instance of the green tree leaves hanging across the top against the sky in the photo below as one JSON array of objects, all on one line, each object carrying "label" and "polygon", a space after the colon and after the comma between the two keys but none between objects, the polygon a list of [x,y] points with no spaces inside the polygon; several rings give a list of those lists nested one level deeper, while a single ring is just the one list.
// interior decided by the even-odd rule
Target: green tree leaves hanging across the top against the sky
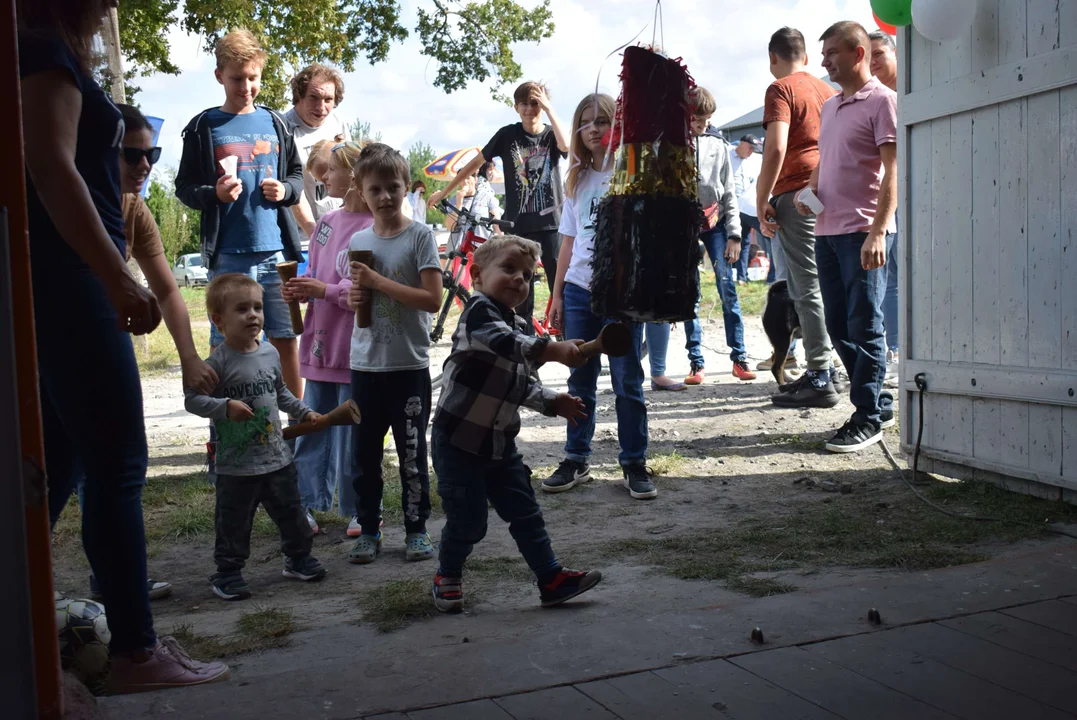
[{"label": "green tree leaves hanging across the top against the sky", "polygon": [[[514,0],[422,2],[426,8],[419,9],[415,31],[423,55],[439,65],[434,85],[446,93],[471,80],[492,77],[495,86],[519,80],[513,43],[537,42],[554,33],[549,0],[533,10]],[[360,58],[370,65],[383,61],[393,43],[409,34],[400,13],[400,0],[185,0],[182,8],[179,0],[124,0],[121,44],[139,74],[176,74],[170,28],[179,25],[202,36],[206,50],[212,51],[228,30],[246,27],[268,53],[261,99],[283,109],[291,104],[289,77],[308,62],[351,71]]]}]

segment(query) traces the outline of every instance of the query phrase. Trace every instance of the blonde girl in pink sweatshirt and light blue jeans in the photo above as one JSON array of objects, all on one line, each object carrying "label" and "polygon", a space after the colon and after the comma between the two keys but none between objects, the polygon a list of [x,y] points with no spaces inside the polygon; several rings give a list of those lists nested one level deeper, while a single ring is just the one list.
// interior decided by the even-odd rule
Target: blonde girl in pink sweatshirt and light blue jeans
[{"label": "blonde girl in pink sweatshirt and light blue jeans", "polygon": [[[299,372],[307,381],[303,400],[321,413],[351,399],[349,355],[355,312],[348,307],[348,243],[352,235],[374,224],[374,215],[352,182],[352,167],[361,150],[354,142],[327,141],[311,149],[307,172],[322,180],[330,197],[344,198],[344,207],[318,221],[310,236],[307,272],[290,280],[281,291],[285,300],[298,298],[307,302],[299,340]],[[339,512],[352,518],[348,535],[358,536],[352,481],[359,475],[359,465],[352,449],[352,428],[341,425],[298,438],[295,467],[299,497],[308,513],[332,510],[335,491],[339,492]],[[318,532],[313,522],[311,527]]]}]

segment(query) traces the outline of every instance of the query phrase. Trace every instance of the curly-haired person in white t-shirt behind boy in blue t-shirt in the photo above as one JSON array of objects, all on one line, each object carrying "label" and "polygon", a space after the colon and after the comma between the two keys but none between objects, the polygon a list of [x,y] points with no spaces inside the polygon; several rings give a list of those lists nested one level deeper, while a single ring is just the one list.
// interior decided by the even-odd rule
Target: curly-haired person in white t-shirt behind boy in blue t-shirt
[{"label": "curly-haired person in white t-shirt behind boy in blue t-shirt", "polygon": [[[344,79],[333,68],[314,62],[292,79],[293,108],[284,113],[289,129],[295,136],[295,146],[304,167],[310,149],[322,140],[342,142],[347,128],[333,110],[344,100]],[[318,218],[336,210],[342,200],[331,198],[325,186],[309,172],[303,174],[303,198],[292,206],[299,229],[310,237]]]}]

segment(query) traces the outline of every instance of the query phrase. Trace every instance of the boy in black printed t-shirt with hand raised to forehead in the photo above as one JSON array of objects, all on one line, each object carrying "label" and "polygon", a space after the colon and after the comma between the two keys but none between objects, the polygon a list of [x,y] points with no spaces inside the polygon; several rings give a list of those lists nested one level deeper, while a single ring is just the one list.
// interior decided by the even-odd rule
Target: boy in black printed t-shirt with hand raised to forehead
[{"label": "boy in black printed t-shirt with hand raised to forehead", "polygon": [[[505,169],[505,216],[516,223],[513,232],[534,240],[542,248],[542,265],[550,292],[557,277],[557,253],[560,250],[558,225],[561,222],[561,159],[568,157],[569,135],[549,102],[545,87],[527,82],[513,94],[519,123],[498,130],[471,163],[457,173],[448,187],[430,197],[433,208],[466,178],[475,174],[482,164],[500,157]],[[549,125],[542,122],[546,113]],[[528,299],[517,308],[533,333],[535,295],[532,285]]]}]

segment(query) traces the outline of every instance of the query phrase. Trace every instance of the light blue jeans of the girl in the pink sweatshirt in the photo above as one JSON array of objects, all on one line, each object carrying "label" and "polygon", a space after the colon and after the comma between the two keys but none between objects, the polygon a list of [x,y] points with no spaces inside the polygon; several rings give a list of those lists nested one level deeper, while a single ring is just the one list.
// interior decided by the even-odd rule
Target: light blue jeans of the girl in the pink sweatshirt
[{"label": "light blue jeans of the girl in the pink sweatshirt", "polygon": [[[303,401],[314,412],[325,414],[351,399],[351,383],[308,380]],[[349,425],[337,425],[295,440],[295,470],[299,476],[299,498],[308,510],[333,509],[333,495],[340,494],[340,514],[355,514],[355,456],[353,433]]]}]

